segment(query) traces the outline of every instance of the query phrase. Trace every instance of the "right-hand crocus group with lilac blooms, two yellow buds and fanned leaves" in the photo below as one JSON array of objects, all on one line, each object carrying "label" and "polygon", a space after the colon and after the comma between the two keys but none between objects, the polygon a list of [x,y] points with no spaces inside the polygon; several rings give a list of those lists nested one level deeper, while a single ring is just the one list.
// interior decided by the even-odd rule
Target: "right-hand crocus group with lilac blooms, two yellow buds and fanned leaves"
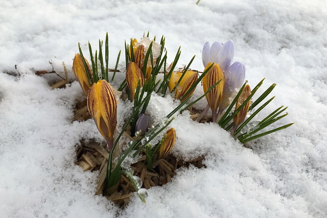
[{"label": "right-hand crocus group with lilac blooms, two yellow buds and fanned leaves", "polygon": [[[233,62],[233,56],[235,53],[235,46],[232,40],[228,40],[225,43],[214,42],[211,46],[209,42],[206,42],[203,46],[202,51],[202,62],[205,69],[212,65],[214,62],[215,68],[212,68],[208,74],[203,78],[203,90],[206,91],[208,87],[212,87],[214,83],[220,81],[215,89],[206,94],[206,100],[208,106],[203,110],[198,120],[200,120],[208,108],[212,110],[213,122],[218,123],[225,130],[231,130],[232,135],[238,138],[242,143],[250,140],[265,136],[267,134],[285,129],[293,123],[281,126],[276,129],[272,129],[257,135],[253,135],[256,132],[272,125],[277,120],[283,118],[287,113],[278,116],[286,108],[277,108],[269,116],[264,118],[259,124],[255,125],[254,128],[250,128],[245,131],[244,127],[258,114],[264,107],[266,107],[273,99],[271,98],[261,107],[255,110],[247,119],[248,111],[258,106],[273,90],[276,84],[272,84],[259,98],[251,104],[251,99],[254,93],[263,84],[260,81],[251,91],[250,86],[247,85],[247,81],[243,84],[245,78],[245,66],[241,62]],[[242,86],[243,84],[243,86]],[[233,113],[230,113],[231,109],[235,107]],[[244,128],[244,129],[243,129]]]}]

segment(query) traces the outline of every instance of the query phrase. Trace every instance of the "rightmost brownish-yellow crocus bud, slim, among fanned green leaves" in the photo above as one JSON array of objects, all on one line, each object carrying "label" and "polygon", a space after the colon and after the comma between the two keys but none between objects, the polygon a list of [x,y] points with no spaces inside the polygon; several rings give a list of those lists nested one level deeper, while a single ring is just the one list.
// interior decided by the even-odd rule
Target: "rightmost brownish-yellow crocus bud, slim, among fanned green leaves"
[{"label": "rightmost brownish-yellow crocus bud, slim, among fanned green leaves", "polygon": [[[244,101],[249,97],[249,95],[251,94],[251,89],[249,85],[246,85],[241,93],[241,95],[239,96],[239,99],[236,102],[235,105],[235,110],[237,110],[243,103]],[[236,128],[243,123],[246,114],[249,110],[250,107],[250,102],[248,101],[246,103],[246,105],[233,117],[233,130],[235,131]]]}]

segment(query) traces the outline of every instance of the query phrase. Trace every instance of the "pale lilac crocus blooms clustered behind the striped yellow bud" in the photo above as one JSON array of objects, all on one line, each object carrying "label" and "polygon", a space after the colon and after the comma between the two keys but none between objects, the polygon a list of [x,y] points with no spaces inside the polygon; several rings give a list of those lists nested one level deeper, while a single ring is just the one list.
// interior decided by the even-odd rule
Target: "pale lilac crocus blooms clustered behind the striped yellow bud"
[{"label": "pale lilac crocus blooms clustered behind the striped yellow bud", "polygon": [[235,94],[235,90],[241,88],[245,78],[245,66],[241,62],[234,62],[235,46],[232,40],[225,43],[214,42],[211,46],[205,42],[202,50],[202,63],[204,67],[209,62],[218,63],[224,72],[225,84],[223,99],[219,105],[218,114],[221,114],[229,106],[229,99]]}]

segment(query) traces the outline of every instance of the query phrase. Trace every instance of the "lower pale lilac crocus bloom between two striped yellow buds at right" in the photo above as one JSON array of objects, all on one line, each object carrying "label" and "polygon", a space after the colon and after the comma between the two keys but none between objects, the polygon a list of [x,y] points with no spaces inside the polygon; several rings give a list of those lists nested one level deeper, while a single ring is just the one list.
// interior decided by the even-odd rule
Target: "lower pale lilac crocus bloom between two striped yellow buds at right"
[{"label": "lower pale lilac crocus bloom between two striped yellow buds at right", "polygon": [[222,113],[229,105],[230,98],[234,98],[237,89],[241,88],[245,78],[245,66],[241,62],[234,62],[230,65],[224,73],[225,86],[223,91],[223,98],[219,105],[219,114]]}]

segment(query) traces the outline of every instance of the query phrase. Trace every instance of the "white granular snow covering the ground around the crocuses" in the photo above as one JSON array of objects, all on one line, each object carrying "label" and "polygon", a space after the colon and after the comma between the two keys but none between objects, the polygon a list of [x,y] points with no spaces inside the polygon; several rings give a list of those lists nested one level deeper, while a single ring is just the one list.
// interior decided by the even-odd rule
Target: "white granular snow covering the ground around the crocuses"
[{"label": "white granular snow covering the ground around the crocuses", "polygon": [[[327,217],[327,3],[195,3],[2,1],[0,217]],[[78,82],[52,90],[55,77],[34,72],[51,71],[51,60],[63,76],[64,61],[74,79],[77,43],[87,53],[87,41],[96,49],[106,32],[113,68],[124,40],[147,31],[166,36],[169,61],[181,46],[179,67],[196,55],[191,68],[198,70],[205,41],[232,39],[234,61],[245,63],[251,87],[264,77],[264,88],[277,84],[260,116],[285,105],[289,115],[279,125],[295,125],[249,142],[251,150],[215,124],[195,123],[185,112],[175,116],[172,152],[205,155],[206,168],[179,169],[172,182],[149,189],[147,204],[134,196],[121,209],[94,195],[98,172],[74,164],[81,139],[102,140],[92,119],[72,122],[75,104],[85,98]],[[127,106],[119,104],[120,125]],[[153,95],[149,113],[160,119],[173,107],[170,96]]]}]

